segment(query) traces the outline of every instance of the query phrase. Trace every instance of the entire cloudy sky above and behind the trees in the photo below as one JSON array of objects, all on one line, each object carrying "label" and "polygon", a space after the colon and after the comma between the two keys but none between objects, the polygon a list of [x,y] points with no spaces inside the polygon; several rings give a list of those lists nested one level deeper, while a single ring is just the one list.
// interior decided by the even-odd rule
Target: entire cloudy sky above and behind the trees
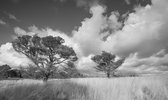
[{"label": "entire cloudy sky above and behind the trees", "polygon": [[74,48],[79,69],[105,50],[127,57],[120,69],[168,70],[167,0],[1,0],[0,64],[26,66],[11,41],[20,35],[61,36]]}]

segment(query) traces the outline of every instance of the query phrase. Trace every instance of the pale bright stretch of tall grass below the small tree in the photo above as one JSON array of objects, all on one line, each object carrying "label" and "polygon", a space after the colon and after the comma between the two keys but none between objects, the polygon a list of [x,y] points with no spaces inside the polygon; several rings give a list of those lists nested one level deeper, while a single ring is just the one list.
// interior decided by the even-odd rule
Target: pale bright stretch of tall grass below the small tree
[{"label": "pale bright stretch of tall grass below the small tree", "polygon": [[76,81],[90,87],[91,100],[168,100],[166,81],[159,77],[90,78]]}]

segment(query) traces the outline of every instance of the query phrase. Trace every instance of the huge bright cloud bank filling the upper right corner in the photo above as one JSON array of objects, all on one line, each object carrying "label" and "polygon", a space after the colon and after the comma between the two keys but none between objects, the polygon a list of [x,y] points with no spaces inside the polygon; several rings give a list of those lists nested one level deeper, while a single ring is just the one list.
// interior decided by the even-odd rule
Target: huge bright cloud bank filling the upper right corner
[{"label": "huge bright cloud bank filling the upper right corner", "polygon": [[116,54],[149,57],[167,47],[167,0],[153,0],[152,6],[138,7],[130,13],[122,30],[107,38],[103,46]]}]

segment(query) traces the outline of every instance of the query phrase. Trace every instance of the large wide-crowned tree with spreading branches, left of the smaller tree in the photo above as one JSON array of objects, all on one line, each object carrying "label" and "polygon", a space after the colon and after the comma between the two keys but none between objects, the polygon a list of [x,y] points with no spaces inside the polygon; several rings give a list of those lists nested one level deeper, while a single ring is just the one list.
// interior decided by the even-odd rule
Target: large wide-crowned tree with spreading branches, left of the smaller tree
[{"label": "large wide-crowned tree with spreading branches, left of the smaller tree", "polygon": [[61,37],[39,37],[37,35],[19,36],[12,42],[13,48],[27,56],[43,74],[43,79],[58,70],[60,64],[76,61],[77,56],[73,48],[64,45]]}]

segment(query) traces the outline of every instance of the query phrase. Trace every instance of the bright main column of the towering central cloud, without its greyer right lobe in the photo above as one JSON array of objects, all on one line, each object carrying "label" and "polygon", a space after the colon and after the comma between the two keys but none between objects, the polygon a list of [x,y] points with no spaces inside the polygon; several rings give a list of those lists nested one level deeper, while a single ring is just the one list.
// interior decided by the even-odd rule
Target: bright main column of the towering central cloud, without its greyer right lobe
[{"label": "bright main column of the towering central cloud, without its greyer right lobe", "polygon": [[92,17],[86,18],[82,22],[82,26],[73,32],[73,39],[80,46],[84,56],[101,51],[100,32],[106,24],[106,17],[103,16],[104,12],[105,8],[101,6],[92,7],[90,10]]}]

